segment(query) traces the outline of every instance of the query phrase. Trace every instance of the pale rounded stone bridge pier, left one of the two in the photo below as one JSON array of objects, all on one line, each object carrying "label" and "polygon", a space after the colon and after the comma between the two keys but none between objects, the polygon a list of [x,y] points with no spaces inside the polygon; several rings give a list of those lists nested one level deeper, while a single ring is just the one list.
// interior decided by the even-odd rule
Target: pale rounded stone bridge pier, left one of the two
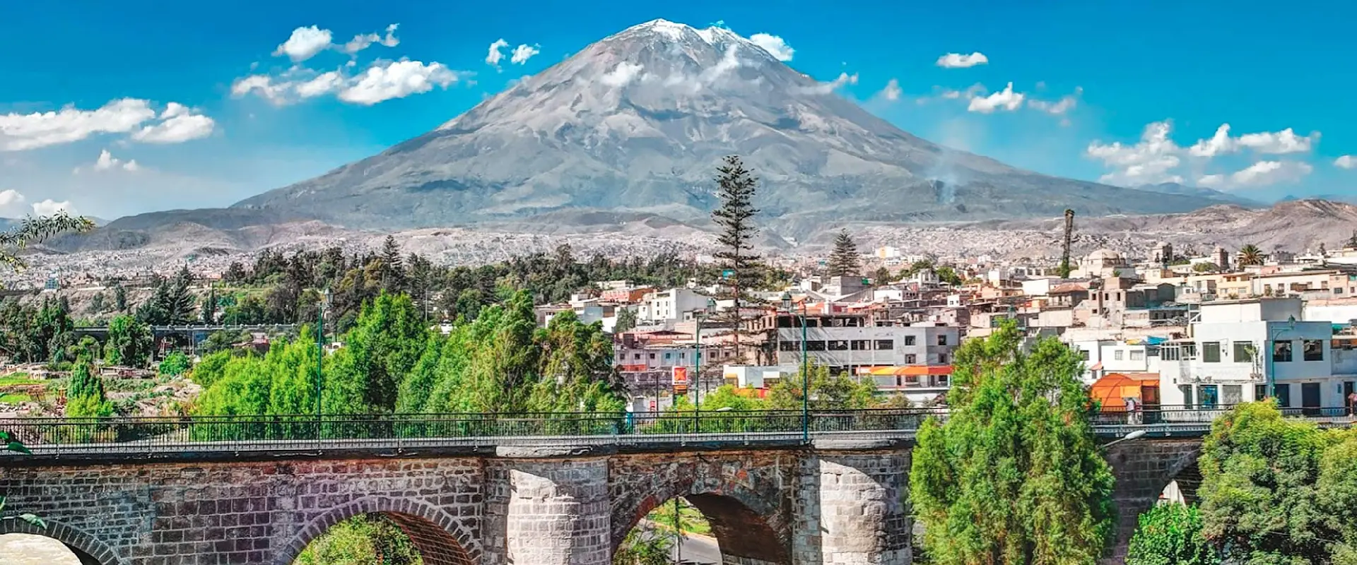
[{"label": "pale rounded stone bridge pier, left one of the two", "polygon": [[[529,453],[528,457],[532,454]],[[608,459],[487,462],[483,565],[608,565]]]}]

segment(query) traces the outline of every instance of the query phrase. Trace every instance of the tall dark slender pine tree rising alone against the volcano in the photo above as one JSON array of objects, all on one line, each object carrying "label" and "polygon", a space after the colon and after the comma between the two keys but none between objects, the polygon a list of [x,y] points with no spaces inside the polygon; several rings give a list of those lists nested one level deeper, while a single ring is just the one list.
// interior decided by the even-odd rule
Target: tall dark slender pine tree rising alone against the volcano
[{"label": "tall dark slender pine tree rising alone against the volcano", "polygon": [[740,304],[749,298],[749,289],[763,280],[764,264],[754,253],[753,238],[759,233],[753,218],[759,213],[754,207],[754,191],[759,179],[745,168],[738,156],[727,156],[722,165],[716,168],[716,194],[721,196],[721,207],[711,211],[711,219],[721,226],[721,236],[716,241],[722,249],[715,253],[722,267],[721,286],[727,290],[727,298],[734,298],[735,308],[731,309],[735,336],[735,358],[740,356],[741,314]]}]

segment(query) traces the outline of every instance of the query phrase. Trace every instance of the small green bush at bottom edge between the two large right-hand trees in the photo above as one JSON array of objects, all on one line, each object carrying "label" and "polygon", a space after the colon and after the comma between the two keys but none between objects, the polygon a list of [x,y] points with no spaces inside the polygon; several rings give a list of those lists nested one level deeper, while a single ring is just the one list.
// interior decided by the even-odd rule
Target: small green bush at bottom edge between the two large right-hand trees
[{"label": "small green bush at bottom edge between the two large right-hand trees", "polygon": [[1201,535],[1196,505],[1156,504],[1140,515],[1126,565],[1217,565],[1220,553]]}]

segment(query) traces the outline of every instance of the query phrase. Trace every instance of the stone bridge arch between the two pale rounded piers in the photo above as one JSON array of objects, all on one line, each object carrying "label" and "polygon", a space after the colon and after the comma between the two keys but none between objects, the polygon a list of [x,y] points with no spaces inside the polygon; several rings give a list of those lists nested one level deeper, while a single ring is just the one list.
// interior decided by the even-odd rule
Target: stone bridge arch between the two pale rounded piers
[{"label": "stone bridge arch between the two pale rounded piers", "polygon": [[711,523],[726,562],[790,565],[790,511],[778,486],[782,470],[763,461],[733,465],[729,458],[716,462],[700,454],[642,473],[613,469],[611,549],[616,553],[653,509],[681,497]]}]

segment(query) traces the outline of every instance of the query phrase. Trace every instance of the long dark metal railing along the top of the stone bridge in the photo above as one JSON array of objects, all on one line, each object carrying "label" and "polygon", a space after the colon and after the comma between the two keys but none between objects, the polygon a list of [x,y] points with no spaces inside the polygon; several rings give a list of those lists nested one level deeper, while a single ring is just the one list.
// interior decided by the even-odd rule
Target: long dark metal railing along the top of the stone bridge
[{"label": "long dark metal railing along the top of the stone bridge", "polygon": [[[1096,434],[1202,435],[1228,406],[1101,411]],[[1284,409],[1322,425],[1352,425],[1346,408]],[[34,454],[117,455],[175,453],[457,448],[514,444],[665,446],[799,444],[806,439],[912,439],[944,408],[862,411],[715,411],[635,413],[398,413],[168,417],[0,419]]]}]

